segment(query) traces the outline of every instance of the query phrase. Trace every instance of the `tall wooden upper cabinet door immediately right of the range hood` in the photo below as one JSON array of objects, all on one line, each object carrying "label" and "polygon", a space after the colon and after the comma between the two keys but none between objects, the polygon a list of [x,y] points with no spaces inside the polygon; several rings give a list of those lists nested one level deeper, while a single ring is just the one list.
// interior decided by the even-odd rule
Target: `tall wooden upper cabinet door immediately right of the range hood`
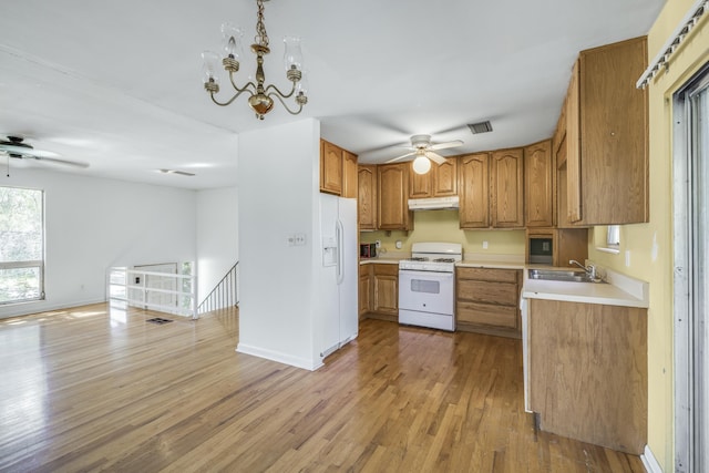
[{"label": "tall wooden upper cabinet door immediately right of the range hood", "polygon": [[490,184],[487,166],[490,155],[476,153],[459,158],[459,217],[461,228],[490,226]]}]

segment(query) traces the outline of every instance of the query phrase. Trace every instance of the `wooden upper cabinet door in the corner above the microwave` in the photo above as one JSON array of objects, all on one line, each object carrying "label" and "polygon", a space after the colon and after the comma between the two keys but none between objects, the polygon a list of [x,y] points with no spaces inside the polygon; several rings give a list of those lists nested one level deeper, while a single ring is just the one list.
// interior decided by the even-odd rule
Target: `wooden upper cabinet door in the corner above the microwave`
[{"label": "wooden upper cabinet door in the corner above the microwave", "polygon": [[526,227],[554,225],[554,182],[552,142],[544,141],[524,148],[524,208]]}]

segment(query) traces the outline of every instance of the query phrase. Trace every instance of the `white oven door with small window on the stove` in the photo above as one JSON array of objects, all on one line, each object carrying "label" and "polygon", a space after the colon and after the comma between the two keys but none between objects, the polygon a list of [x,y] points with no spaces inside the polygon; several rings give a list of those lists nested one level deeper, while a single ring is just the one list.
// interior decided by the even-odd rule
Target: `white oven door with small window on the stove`
[{"label": "white oven door with small window on the stove", "polygon": [[453,316],[453,273],[399,270],[399,309]]}]

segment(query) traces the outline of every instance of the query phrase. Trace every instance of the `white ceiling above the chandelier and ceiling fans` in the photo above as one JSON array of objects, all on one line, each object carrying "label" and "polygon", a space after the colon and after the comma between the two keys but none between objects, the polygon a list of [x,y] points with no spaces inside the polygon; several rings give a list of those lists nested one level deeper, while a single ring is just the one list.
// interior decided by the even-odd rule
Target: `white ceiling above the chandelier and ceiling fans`
[{"label": "white ceiling above the chandelier and ceiling fans", "polygon": [[[268,1],[267,82],[289,84],[281,39],[298,34],[310,88],[304,113],[294,117],[277,103],[259,122],[244,97],[218,107],[201,83],[199,54],[219,51],[222,22],[242,25],[250,42],[254,0],[8,0],[0,135],[24,135],[37,148],[90,164],[12,160],[12,167],[186,188],[235,185],[238,134],[301,116],[320,120],[325,138],[366,163],[402,154],[395,145],[418,133],[464,142],[448,154],[517,146],[551,136],[579,50],[646,34],[662,4]],[[253,74],[254,64],[244,61],[238,76]],[[492,133],[465,126],[484,120]]]}]

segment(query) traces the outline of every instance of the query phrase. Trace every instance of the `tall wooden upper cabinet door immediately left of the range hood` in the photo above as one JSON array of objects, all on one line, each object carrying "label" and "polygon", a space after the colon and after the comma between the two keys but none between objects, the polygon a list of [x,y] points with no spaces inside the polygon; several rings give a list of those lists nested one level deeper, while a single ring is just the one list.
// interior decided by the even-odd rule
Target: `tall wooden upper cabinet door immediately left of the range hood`
[{"label": "tall wooden upper cabinet door immediately left of the range hood", "polygon": [[379,229],[410,230],[413,216],[409,212],[409,164],[378,166]]}]

